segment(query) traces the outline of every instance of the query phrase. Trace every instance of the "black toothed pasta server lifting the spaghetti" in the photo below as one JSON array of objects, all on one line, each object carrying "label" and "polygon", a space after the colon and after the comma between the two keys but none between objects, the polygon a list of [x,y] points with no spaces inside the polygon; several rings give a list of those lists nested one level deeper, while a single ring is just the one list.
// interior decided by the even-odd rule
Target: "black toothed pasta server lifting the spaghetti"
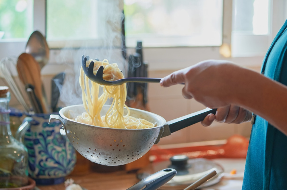
[{"label": "black toothed pasta server lifting the spaghetti", "polygon": [[91,61],[88,70],[87,70],[87,59],[90,59],[90,57],[87,55],[84,57],[82,56],[82,67],[84,70],[84,73],[87,75],[87,77],[100,85],[105,86],[116,86],[116,85],[122,85],[123,83],[159,83],[161,78],[123,78],[116,81],[106,81],[103,79],[103,72],[104,67],[100,66],[96,75],[94,75],[94,61]]}]

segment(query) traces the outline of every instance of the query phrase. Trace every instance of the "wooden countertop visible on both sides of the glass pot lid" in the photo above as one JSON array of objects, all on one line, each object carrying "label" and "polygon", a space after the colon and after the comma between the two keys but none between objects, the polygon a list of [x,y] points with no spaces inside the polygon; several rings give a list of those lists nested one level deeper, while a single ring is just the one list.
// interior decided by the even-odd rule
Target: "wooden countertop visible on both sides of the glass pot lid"
[{"label": "wooden countertop visible on both sides of the glass pot lid", "polygon": [[[202,190],[240,190],[242,187],[245,159],[220,158],[213,159],[213,161],[222,165],[227,176],[224,175],[219,183]],[[84,167],[82,167],[82,169],[84,169]],[[238,174],[234,175],[233,177],[228,175],[229,171],[232,169],[236,169],[238,172]],[[70,178],[74,180],[75,184],[79,184],[81,187],[87,190],[126,190],[139,181],[136,177],[136,173],[129,173],[125,170],[117,170],[104,173],[95,172],[95,170],[92,170],[82,173],[82,175],[79,175],[77,172],[73,172],[71,175],[66,177],[66,179]],[[37,185],[37,187],[40,190],[65,190],[64,183],[59,185],[46,186]]]}]

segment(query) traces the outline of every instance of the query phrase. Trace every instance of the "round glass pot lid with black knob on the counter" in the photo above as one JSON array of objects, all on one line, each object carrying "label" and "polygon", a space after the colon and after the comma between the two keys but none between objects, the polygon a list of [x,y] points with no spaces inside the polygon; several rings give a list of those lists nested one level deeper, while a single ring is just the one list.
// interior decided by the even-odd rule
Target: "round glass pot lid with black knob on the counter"
[{"label": "round glass pot lid with black knob on the counter", "polygon": [[160,171],[164,168],[173,168],[177,170],[177,174],[168,181],[165,185],[160,187],[162,190],[182,190],[208,174],[212,170],[216,171],[216,175],[203,183],[198,188],[204,188],[211,185],[214,185],[220,181],[223,177],[223,168],[217,163],[204,159],[204,158],[195,158],[189,159],[186,155],[175,155],[170,158],[170,161],[163,161],[158,163],[152,163],[148,167],[141,169],[137,173],[138,179],[144,179],[149,175]]}]

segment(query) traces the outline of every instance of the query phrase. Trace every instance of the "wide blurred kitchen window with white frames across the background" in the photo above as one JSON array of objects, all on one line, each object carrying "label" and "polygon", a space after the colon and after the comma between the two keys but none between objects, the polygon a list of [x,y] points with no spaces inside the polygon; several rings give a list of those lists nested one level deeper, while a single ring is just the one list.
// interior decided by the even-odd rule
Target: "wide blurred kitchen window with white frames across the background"
[{"label": "wide blurred kitchen window with white frames across the background", "polygon": [[[116,27],[112,27],[111,33],[115,35],[115,39],[104,40],[109,35],[106,28],[110,21],[119,16],[105,14],[117,12],[113,6],[109,6],[115,2],[117,2],[117,8],[124,9],[126,14],[126,45],[129,47],[127,51],[133,52],[134,49],[131,47],[135,47],[136,41],[143,41],[144,56],[150,62],[151,70],[183,68],[204,59],[228,59],[243,65],[261,64],[264,53],[286,19],[286,0],[1,0],[1,5],[3,2],[18,4],[18,8],[15,6],[16,8],[11,9],[12,13],[9,14],[15,16],[17,11],[25,12],[26,19],[23,17],[24,21],[21,24],[26,26],[17,27],[17,29],[3,27],[6,26],[3,24],[7,23],[5,17],[9,18],[9,15],[1,11],[0,31],[6,34],[0,39],[0,59],[23,53],[32,30],[39,30],[46,35],[51,48],[49,62],[51,64],[56,63],[55,57],[63,47],[79,49],[80,46],[89,48],[109,44],[120,47],[120,22]],[[100,2],[105,2],[106,5],[101,7]],[[184,5],[191,11],[186,11],[186,7],[183,9]],[[5,5],[1,7],[7,9]],[[244,21],[244,18],[239,17],[237,13],[247,9],[253,9],[253,13],[247,16],[249,19],[253,17],[254,22],[257,18],[259,18],[258,22],[268,20],[258,25],[253,24],[252,33],[238,30],[236,27],[239,26],[240,19]],[[105,14],[104,21],[98,19],[103,16],[102,14]],[[161,17],[162,15],[166,16]],[[192,27],[188,23],[194,23],[195,15],[200,15],[202,22],[196,22],[194,29],[188,33],[186,30]],[[161,18],[165,22],[160,23]],[[178,18],[178,22],[173,20],[175,18]],[[212,26],[209,22],[210,18],[216,26],[212,28],[212,32],[207,29]],[[148,23],[150,26],[146,27]],[[13,26],[12,23],[10,25]],[[17,26],[20,25],[17,24]],[[264,33],[256,32],[257,26],[264,26],[264,30],[260,29]],[[7,37],[11,33],[9,30],[22,31],[22,37],[17,35]],[[178,33],[176,33],[177,30]],[[173,64],[175,61],[178,64]]]}]

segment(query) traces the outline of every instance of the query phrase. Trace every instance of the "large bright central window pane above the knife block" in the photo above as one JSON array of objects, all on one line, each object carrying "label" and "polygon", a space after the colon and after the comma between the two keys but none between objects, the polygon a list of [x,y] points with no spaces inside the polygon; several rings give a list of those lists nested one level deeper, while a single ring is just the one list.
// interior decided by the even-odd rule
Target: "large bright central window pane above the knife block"
[{"label": "large bright central window pane above the knife block", "polygon": [[124,0],[127,46],[219,46],[222,11],[222,0]]}]

